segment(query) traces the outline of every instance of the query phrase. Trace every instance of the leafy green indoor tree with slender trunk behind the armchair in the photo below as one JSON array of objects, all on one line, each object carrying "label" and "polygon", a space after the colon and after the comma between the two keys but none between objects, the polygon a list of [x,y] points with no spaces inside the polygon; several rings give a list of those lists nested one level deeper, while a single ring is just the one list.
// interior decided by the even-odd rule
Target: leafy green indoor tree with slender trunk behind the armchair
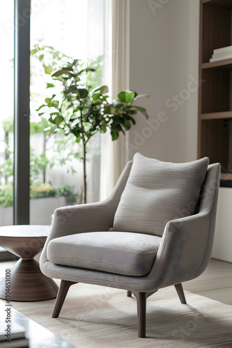
[{"label": "leafy green indoor tree with slender trunk behind the armchair", "polygon": [[44,65],[44,70],[51,74],[54,81],[53,84],[47,84],[47,88],[54,91],[38,108],[39,116],[47,117],[50,123],[47,132],[63,132],[65,136],[72,134],[74,141],[82,144],[83,203],[86,203],[88,141],[94,134],[105,133],[107,129],[110,130],[112,140],[116,140],[119,133],[125,133],[135,124],[133,116],[138,111],[148,118],[146,109],[133,104],[144,95],[124,90],[117,95],[117,100],[110,102],[107,86],[92,88],[88,84],[88,74],[95,69],[78,60],[56,70]]}]

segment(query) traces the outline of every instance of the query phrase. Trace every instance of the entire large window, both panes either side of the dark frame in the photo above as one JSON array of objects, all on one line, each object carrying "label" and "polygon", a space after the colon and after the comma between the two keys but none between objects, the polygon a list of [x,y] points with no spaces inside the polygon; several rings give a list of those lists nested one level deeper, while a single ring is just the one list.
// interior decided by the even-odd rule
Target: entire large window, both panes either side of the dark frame
[{"label": "entire large window, both panes either side of the dark frame", "polygon": [[[0,116],[0,198],[2,198],[0,209],[2,207],[4,212],[0,214],[0,226],[13,224],[13,2],[13,0],[7,1],[1,10],[2,47],[4,47],[4,54],[0,57],[1,66],[4,67],[2,69],[1,97],[4,102]],[[28,6],[28,1],[21,2]],[[17,6],[15,6],[15,10],[17,10]],[[25,8],[20,17],[22,26],[24,26],[24,21],[28,21],[27,16],[28,9]],[[63,134],[44,132],[46,120],[38,116],[38,111],[36,111],[50,93],[46,87],[51,81],[51,77],[44,72],[44,65],[49,60],[54,65],[65,63],[65,56],[69,56],[70,58],[97,61],[99,72],[101,72],[101,56],[104,53],[103,0],[31,0],[30,22],[31,61],[28,69],[30,69],[31,85],[29,159],[31,199],[29,222],[49,224],[51,214],[56,207],[80,202],[82,166],[78,159],[80,157],[79,145]],[[26,26],[24,30],[26,30],[25,28]],[[22,45],[22,41],[19,40],[18,45],[20,44]],[[15,47],[16,54],[20,56],[21,53],[18,52],[20,47],[17,45]],[[62,54],[64,55],[63,61],[58,61],[58,56]],[[101,84],[101,73],[99,72],[93,76],[96,84]],[[22,79],[22,75],[19,77],[19,86],[20,79]],[[22,98],[19,98],[19,102],[22,102]],[[16,125],[16,127],[20,127],[20,125]],[[18,137],[25,138],[26,136],[28,136],[26,129],[22,129],[22,132],[19,129]],[[16,146],[20,145],[20,139],[18,140]],[[20,161],[15,165],[20,166]],[[26,171],[26,168],[21,167],[21,175],[24,177],[23,171]],[[100,139],[96,135],[88,149],[89,202],[99,200],[99,173]],[[20,185],[20,175],[17,180],[15,178],[15,182],[17,186]],[[16,221],[16,223],[18,222]],[[19,223],[24,223],[23,219]]]}]

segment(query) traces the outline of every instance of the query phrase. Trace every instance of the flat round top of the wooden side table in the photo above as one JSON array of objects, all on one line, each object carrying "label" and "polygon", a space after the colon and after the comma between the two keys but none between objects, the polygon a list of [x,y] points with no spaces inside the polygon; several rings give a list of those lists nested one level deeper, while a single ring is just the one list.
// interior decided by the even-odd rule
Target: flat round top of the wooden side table
[{"label": "flat round top of the wooden side table", "polygon": [[0,237],[47,237],[49,225],[12,225],[1,226]]}]

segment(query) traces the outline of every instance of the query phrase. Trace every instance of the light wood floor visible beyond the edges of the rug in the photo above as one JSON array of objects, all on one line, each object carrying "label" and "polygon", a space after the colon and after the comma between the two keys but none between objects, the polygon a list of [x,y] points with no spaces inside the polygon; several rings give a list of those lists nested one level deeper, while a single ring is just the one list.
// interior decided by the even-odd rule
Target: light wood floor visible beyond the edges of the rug
[{"label": "light wood floor visible beyond the edges of the rug", "polygon": [[[0,279],[14,263],[0,262]],[[232,263],[211,259],[206,271],[198,278],[183,283],[183,288],[232,306]]]}]

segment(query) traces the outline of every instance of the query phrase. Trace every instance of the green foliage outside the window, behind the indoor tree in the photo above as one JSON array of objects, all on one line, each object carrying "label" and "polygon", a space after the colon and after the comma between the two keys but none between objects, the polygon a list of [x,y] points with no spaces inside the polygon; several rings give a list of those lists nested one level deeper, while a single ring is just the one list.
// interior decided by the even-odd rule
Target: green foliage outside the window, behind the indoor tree
[{"label": "green foliage outside the window, behind the indoor tree", "polygon": [[[31,55],[35,55],[35,51],[40,53],[39,60],[42,59],[42,54],[44,56],[44,61],[47,65],[52,68],[58,68],[62,63],[63,59],[67,61],[68,57],[61,52],[56,51],[53,47],[38,47],[36,46],[34,50],[31,51]],[[101,59],[96,61],[95,65],[100,65]],[[36,71],[31,65],[31,75],[36,77],[40,72]],[[33,95],[31,95],[33,99]],[[13,152],[9,148],[9,138],[13,139],[13,116],[8,116],[5,120],[1,122],[3,130],[6,134],[6,150],[5,159],[0,165],[0,205],[3,207],[10,207],[13,205]],[[62,187],[53,187],[50,182],[46,182],[46,169],[53,168],[53,166],[67,166],[67,172],[71,171],[76,173],[75,166],[72,166],[74,159],[81,157],[78,152],[72,152],[70,150],[67,153],[67,148],[70,148],[70,137],[60,138],[56,134],[51,134],[50,132],[44,132],[44,129],[49,127],[49,123],[45,118],[41,118],[39,122],[30,122],[30,134],[31,136],[35,134],[44,135],[44,150],[38,153],[30,147],[30,198],[42,198],[42,197],[59,197],[66,196],[68,198],[68,203],[73,204],[78,200],[78,194],[74,193],[74,187],[69,185],[64,185]],[[53,149],[47,149],[47,143],[50,136],[53,137]],[[50,143],[50,145],[51,145]],[[51,150],[53,153],[48,158],[47,150]],[[62,153],[65,150],[65,156]],[[42,182],[42,183],[41,183]]]}]

